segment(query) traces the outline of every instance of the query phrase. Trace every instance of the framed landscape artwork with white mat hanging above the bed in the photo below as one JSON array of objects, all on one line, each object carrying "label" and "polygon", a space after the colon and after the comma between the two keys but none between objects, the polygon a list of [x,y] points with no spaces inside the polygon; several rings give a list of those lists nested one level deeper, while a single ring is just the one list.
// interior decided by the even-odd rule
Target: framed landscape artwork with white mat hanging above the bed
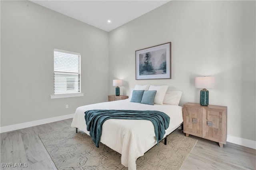
[{"label": "framed landscape artwork with white mat hanging above the bed", "polygon": [[136,80],[171,78],[171,42],[135,51]]}]

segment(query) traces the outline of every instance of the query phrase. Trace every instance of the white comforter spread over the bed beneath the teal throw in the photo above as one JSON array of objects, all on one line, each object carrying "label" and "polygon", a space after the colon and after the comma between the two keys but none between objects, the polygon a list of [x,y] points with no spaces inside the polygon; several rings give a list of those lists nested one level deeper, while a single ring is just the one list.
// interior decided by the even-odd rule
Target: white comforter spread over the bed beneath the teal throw
[{"label": "white comforter spread over the bed beneath the teal throw", "polygon": [[[155,110],[162,111],[170,117],[166,134],[178,128],[182,122],[182,107],[174,105],[145,105],[130,102],[129,99],[81,106],[76,109],[71,127],[86,130],[84,112],[93,109],[116,110]],[[100,142],[122,154],[121,163],[129,170],[136,170],[136,160],[156,144],[156,135],[151,121],[109,119],[102,125]]]}]

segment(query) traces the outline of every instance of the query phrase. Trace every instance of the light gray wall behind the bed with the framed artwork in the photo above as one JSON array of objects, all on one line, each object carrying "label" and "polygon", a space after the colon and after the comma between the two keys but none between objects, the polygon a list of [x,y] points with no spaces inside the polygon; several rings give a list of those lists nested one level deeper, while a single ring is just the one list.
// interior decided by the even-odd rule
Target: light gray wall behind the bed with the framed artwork
[{"label": "light gray wall behind the bed with the framed artwork", "polygon": [[[255,1],[170,1],[109,33],[109,94],[123,79],[183,91],[199,103],[195,77],[214,76],[209,103],[228,107],[228,135],[256,140]],[[135,51],[172,42],[172,79],[135,80]]]}]

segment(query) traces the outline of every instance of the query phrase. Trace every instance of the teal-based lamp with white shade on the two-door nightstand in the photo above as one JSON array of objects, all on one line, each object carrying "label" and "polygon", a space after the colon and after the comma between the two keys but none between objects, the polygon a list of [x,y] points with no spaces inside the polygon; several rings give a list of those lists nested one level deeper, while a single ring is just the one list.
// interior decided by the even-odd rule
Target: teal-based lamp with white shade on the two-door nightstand
[{"label": "teal-based lamp with white shade on the two-door nightstand", "polygon": [[196,77],[196,88],[203,88],[200,91],[200,105],[208,106],[209,91],[206,88],[214,87],[214,77]]}]

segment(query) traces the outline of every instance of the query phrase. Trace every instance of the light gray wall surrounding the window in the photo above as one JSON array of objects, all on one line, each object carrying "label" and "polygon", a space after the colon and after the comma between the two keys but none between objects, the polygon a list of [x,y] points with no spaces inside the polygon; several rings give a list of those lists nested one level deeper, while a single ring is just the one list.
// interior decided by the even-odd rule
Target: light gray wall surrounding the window
[{"label": "light gray wall surrounding the window", "polygon": [[[108,32],[30,1],[0,3],[1,127],[68,115],[78,106],[107,101]],[[81,53],[84,97],[50,99],[54,48]]]}]

